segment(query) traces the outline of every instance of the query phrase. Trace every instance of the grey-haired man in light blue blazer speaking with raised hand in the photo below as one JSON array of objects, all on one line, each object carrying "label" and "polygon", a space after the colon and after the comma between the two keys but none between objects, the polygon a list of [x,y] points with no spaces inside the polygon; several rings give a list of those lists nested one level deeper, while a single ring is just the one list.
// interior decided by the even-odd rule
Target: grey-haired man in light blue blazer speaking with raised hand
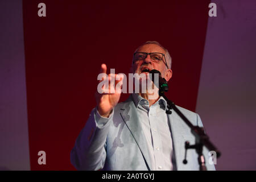
[{"label": "grey-haired man in light blue blazer speaking with raised hand", "polygon": [[[139,46],[131,65],[131,71],[138,75],[147,75],[152,69],[166,81],[172,77],[171,56],[158,42]],[[102,64],[101,73],[106,71]],[[96,92],[97,106],[71,151],[73,166],[79,170],[199,170],[195,150],[187,152],[188,163],[183,163],[184,143],[195,143],[195,137],[175,111],[166,114],[163,97],[151,99],[141,88],[125,102],[118,103],[120,96],[120,92]],[[203,126],[198,114],[177,107],[194,126]],[[205,147],[203,154],[207,169],[214,170]]]}]

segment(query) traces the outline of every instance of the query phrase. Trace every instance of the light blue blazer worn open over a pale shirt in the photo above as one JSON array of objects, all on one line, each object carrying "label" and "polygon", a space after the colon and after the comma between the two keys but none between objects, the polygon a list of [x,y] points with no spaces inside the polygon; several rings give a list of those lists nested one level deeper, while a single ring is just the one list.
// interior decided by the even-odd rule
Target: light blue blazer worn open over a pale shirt
[{"label": "light blue blazer worn open over a pale shirt", "polygon": [[[177,106],[193,125],[203,127],[198,114]],[[96,120],[98,122],[96,122]],[[199,170],[195,150],[187,151],[187,164],[183,164],[185,141],[195,143],[195,137],[184,121],[172,110],[168,115],[177,170]],[[209,164],[207,148],[203,154],[208,170],[215,170]],[[71,163],[79,170],[151,170],[146,138],[136,113],[131,96],[114,107],[109,119],[102,118],[94,108],[84,129],[76,139],[71,151]]]}]

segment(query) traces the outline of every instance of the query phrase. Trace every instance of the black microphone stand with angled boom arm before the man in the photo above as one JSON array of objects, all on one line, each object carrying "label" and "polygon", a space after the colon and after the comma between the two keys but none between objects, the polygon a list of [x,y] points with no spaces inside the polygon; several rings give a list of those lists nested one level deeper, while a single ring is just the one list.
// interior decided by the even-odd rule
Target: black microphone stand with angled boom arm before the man
[{"label": "black microphone stand with angled boom arm before the man", "polygon": [[183,115],[181,111],[177,109],[174,102],[172,102],[171,100],[168,100],[168,98],[164,95],[164,91],[167,92],[168,88],[164,89],[163,87],[161,85],[159,88],[159,96],[162,96],[167,101],[166,113],[171,114],[172,113],[171,109],[173,109],[177,113],[177,115],[179,115],[180,118],[183,119],[183,121],[188,125],[188,127],[191,128],[191,132],[196,138],[196,142],[193,145],[190,145],[188,141],[185,142],[185,159],[183,160],[183,163],[187,164],[187,160],[186,160],[187,149],[194,148],[197,154],[199,155],[198,162],[200,166],[199,168],[200,171],[207,171],[207,167],[205,166],[205,159],[203,155],[203,146],[207,147],[209,151],[215,151],[217,158],[220,156],[220,151],[218,151],[217,148],[212,144],[212,142],[210,142],[209,137],[204,133],[203,127],[193,126],[192,123],[185,117],[185,115]]}]

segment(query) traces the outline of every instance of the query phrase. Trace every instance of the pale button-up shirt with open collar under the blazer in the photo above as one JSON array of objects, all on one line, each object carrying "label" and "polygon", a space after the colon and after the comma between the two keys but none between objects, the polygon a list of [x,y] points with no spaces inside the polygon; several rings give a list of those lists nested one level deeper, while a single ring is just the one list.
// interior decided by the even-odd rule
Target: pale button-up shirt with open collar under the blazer
[{"label": "pale button-up shirt with open collar under the blazer", "polygon": [[160,97],[155,104],[138,94],[132,94],[139,121],[150,153],[152,170],[174,170],[174,151],[172,147],[171,129],[166,114],[167,102]]}]

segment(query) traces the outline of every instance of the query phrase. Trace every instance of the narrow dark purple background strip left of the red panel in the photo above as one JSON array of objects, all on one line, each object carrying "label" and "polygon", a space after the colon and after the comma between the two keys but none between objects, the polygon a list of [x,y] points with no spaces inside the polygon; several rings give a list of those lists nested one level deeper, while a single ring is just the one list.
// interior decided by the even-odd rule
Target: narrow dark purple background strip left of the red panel
[{"label": "narrow dark purple background strip left of the red panel", "polygon": [[0,170],[30,170],[22,1],[0,1]]}]

